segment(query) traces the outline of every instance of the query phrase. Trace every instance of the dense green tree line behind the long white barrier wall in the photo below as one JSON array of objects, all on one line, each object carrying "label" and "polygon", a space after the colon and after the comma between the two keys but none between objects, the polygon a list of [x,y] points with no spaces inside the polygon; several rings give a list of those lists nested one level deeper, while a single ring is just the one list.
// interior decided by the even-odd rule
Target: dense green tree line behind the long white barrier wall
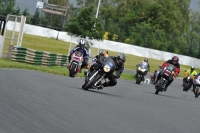
[{"label": "dense green tree line behind the long white barrier wall", "polygon": [[15,8],[15,0],[1,0],[0,14],[27,16],[27,23],[61,27],[72,35],[107,39],[146,48],[200,58],[200,11],[190,9],[190,0],[49,0],[49,3],[68,6],[62,27],[61,17],[41,14],[36,9]]}]

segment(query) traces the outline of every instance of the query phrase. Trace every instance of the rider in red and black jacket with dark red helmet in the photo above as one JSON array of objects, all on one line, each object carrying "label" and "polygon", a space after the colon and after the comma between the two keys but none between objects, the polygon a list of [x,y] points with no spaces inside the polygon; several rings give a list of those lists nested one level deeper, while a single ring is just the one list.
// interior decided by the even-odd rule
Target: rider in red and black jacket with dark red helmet
[{"label": "rider in red and black jacket with dark red helmet", "polygon": [[[177,56],[173,56],[171,60],[168,60],[166,62],[164,62],[161,66],[161,69],[163,69],[164,67],[167,66],[167,64],[173,64],[176,69],[174,71],[174,78],[176,78],[176,76],[179,74],[180,72],[180,64],[178,63],[179,58]],[[155,85],[157,83],[157,81],[161,78],[160,73],[158,74],[158,76],[156,77],[155,81],[153,82],[153,84]],[[165,86],[164,91],[167,91],[167,87],[173,82],[173,79],[169,80],[167,85]]]}]

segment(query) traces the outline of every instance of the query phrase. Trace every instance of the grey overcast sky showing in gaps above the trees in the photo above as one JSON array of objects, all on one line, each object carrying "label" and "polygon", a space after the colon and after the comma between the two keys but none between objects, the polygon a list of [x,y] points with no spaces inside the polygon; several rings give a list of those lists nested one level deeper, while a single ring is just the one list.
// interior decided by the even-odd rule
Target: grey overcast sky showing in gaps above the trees
[{"label": "grey overcast sky showing in gaps above the trees", "polygon": [[[29,13],[34,14],[37,1],[40,0],[16,0],[16,6],[19,6],[21,8],[21,11],[23,11],[27,7],[29,9]],[[76,0],[70,0],[70,3],[75,4]],[[190,8],[198,10],[198,0],[191,0]]]}]

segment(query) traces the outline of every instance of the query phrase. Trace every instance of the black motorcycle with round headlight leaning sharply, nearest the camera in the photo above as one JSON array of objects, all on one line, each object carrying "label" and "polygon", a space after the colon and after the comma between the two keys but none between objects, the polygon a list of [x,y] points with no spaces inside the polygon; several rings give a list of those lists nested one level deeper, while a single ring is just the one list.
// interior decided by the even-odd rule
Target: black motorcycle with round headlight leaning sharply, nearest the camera
[{"label": "black motorcycle with round headlight leaning sharply, nearest the camera", "polygon": [[82,88],[84,90],[100,88],[100,86],[102,86],[102,80],[106,80],[115,69],[115,62],[111,58],[107,57],[101,60],[98,68],[95,68],[92,73],[90,73],[90,71],[86,73],[85,83],[82,85]]}]

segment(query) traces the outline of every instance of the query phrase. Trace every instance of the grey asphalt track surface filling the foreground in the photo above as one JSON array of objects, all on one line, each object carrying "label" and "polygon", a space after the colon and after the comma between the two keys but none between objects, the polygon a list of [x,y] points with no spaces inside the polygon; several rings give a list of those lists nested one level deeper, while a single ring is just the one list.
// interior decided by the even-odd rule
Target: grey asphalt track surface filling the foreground
[{"label": "grey asphalt track surface filling the foreground", "polygon": [[0,133],[199,133],[200,99],[176,79],[155,95],[151,84],[118,80],[84,91],[83,79],[0,69]]}]

